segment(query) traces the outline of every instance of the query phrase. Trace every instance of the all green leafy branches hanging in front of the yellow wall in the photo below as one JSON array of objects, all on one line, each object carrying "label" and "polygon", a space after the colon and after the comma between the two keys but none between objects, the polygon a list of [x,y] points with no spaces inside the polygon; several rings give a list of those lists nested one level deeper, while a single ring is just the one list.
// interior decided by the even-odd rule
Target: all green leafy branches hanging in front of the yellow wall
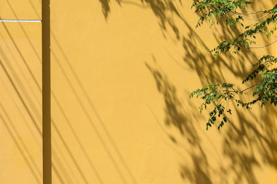
[{"label": "all green leafy branches hanging in front of the yellow wall", "polygon": [[[262,10],[258,12],[242,13],[247,9],[247,6],[253,4],[253,1],[246,0],[195,0],[192,8],[195,12],[200,14],[199,21],[196,27],[199,27],[208,20],[212,25],[218,24],[220,21],[225,21],[230,28],[235,28],[240,25],[244,32],[238,34],[237,37],[222,41],[216,48],[211,50],[213,55],[229,52],[236,54],[242,49],[251,49],[250,45],[256,44],[256,34],[266,34],[267,37],[274,37],[276,32],[277,21],[277,5],[270,10]],[[240,11],[240,12],[239,12]],[[247,17],[248,14],[262,14],[258,19],[251,19]],[[244,26],[244,19],[251,19],[258,21],[251,25]],[[277,40],[276,40],[277,41]],[[265,48],[276,41],[264,45],[260,48]],[[254,48],[253,48],[254,49]],[[261,107],[268,102],[277,105],[277,68],[275,67],[277,58],[271,55],[265,55],[253,65],[254,70],[242,83],[247,81],[258,81],[258,83],[251,85],[251,87],[244,90],[238,90],[233,83],[208,83],[202,89],[197,89],[190,94],[190,97],[197,96],[204,100],[204,103],[199,107],[200,112],[207,110],[208,105],[214,105],[211,112],[209,112],[208,123],[206,128],[217,124],[218,129],[227,122],[226,114],[231,114],[229,101],[233,101],[237,106],[242,106],[246,109],[251,109],[251,105],[260,103]],[[251,101],[242,101],[241,96],[246,94],[245,91],[255,88],[253,90]]]}]

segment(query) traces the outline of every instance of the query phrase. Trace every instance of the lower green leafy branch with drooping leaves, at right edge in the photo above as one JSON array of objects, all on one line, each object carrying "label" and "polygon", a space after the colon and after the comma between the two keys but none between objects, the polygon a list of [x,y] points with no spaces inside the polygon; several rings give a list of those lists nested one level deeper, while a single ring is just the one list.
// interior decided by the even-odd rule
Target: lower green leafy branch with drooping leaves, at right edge
[{"label": "lower green leafy branch with drooping leaves, at right edge", "polygon": [[[216,121],[219,121],[218,129],[227,122],[227,118],[223,115],[223,118],[220,120],[220,116],[224,114],[225,109],[226,112],[231,114],[231,109],[226,108],[225,104],[229,103],[229,101],[233,101],[237,106],[242,106],[242,108],[251,109],[251,105],[260,102],[261,107],[265,105],[268,101],[271,104],[277,105],[277,68],[272,68],[274,64],[277,64],[277,58],[271,55],[263,56],[255,65],[256,69],[251,72],[247,78],[245,78],[242,83],[247,81],[252,81],[259,78],[259,83],[252,85],[250,88],[245,90],[236,90],[234,88],[234,84],[232,83],[208,83],[204,85],[204,88],[197,89],[190,94],[190,98],[193,96],[197,96],[200,99],[204,100],[204,103],[199,107],[200,112],[202,110],[207,110],[207,106],[212,103],[215,105],[215,108],[211,112],[209,112],[208,123],[206,123],[206,129],[214,125]],[[249,102],[244,102],[238,99],[237,94],[244,94],[244,91],[249,90],[253,87],[256,89],[253,91],[253,96],[256,99],[253,99]]]}]

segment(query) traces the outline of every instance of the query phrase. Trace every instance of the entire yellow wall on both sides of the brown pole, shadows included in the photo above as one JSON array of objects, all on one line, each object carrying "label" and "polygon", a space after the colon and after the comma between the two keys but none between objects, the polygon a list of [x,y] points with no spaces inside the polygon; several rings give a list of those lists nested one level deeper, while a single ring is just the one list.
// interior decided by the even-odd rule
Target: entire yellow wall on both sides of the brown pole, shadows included
[{"label": "entire yellow wall on both sides of the brown pole, shadows included", "polygon": [[[188,99],[211,81],[243,88],[276,48],[214,59],[233,32],[195,29],[191,3],[51,1],[52,183],[277,183],[274,108],[233,109],[206,131],[201,101]],[[39,1],[3,4],[1,18],[41,17]],[[0,26],[0,183],[42,183],[41,24]]]}]

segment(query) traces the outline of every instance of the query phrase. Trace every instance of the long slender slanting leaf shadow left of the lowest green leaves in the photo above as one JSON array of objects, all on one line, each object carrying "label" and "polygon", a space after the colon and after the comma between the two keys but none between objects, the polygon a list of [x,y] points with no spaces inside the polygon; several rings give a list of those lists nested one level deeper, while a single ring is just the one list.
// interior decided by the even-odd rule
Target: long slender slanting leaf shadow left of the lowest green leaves
[{"label": "long slender slanting leaf shadow left of the lowest green leaves", "polygon": [[[184,180],[192,183],[212,183],[209,178],[209,163],[206,158],[206,154],[202,148],[202,141],[197,131],[197,114],[191,114],[188,108],[184,108],[184,104],[177,96],[177,89],[172,83],[168,81],[166,74],[161,72],[158,68],[152,68],[152,66],[146,63],[147,68],[150,70],[154,80],[157,84],[157,89],[163,96],[165,103],[165,123],[170,127],[177,127],[181,135],[186,141],[187,152],[190,155],[190,159],[193,160],[193,168],[188,168],[186,165],[181,165],[180,174]],[[188,106],[193,106],[190,102],[187,102]],[[191,123],[195,122],[195,123]],[[175,138],[175,136],[169,135],[169,139],[176,145],[183,146]],[[182,141],[183,142],[183,141]]]}]

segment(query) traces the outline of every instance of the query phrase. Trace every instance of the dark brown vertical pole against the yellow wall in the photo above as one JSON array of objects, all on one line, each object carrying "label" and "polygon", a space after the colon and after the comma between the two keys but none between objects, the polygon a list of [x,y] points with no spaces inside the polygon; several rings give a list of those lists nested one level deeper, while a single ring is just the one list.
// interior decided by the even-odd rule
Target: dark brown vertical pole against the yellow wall
[{"label": "dark brown vertical pole against the yellow wall", "polygon": [[42,0],[42,165],[43,184],[52,183],[51,170],[51,50],[50,0]]}]

